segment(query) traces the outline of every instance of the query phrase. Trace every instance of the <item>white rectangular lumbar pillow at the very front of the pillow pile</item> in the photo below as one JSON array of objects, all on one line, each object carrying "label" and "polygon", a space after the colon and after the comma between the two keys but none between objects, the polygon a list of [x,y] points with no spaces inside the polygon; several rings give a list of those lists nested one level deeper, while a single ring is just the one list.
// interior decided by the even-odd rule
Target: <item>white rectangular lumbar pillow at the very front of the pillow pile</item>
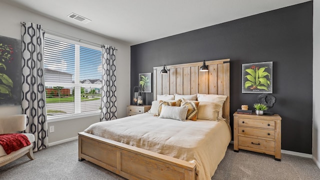
[{"label": "white rectangular lumbar pillow at the very front of the pillow pile", "polygon": [[169,106],[162,104],[159,118],[170,118],[185,121],[188,106]]}]

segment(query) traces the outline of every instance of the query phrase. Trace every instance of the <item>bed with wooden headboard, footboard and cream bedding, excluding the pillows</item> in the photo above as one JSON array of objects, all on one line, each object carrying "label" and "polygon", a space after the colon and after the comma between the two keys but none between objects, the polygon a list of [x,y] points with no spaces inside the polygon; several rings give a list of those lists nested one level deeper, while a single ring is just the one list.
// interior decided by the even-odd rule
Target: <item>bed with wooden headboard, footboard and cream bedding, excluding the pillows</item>
[{"label": "bed with wooden headboard, footboard and cream bedding, excluding the pillows", "polygon": [[[210,179],[231,138],[228,62],[206,61],[207,72],[198,71],[202,62],[167,65],[168,75],[160,75],[162,67],[153,68],[154,100],[159,94],[225,95],[223,118],[179,121],[144,113],[98,122],[78,133],[79,160],[128,179]],[[103,126],[109,130],[102,131]],[[188,135],[190,131],[198,136]],[[183,151],[190,153],[180,153]]]}]

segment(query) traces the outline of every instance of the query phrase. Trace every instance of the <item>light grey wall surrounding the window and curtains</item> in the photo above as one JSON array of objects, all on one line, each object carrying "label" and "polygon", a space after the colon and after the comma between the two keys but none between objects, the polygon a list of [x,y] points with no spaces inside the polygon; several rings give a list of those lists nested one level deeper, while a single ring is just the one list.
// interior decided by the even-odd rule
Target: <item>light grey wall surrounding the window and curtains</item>
[{"label": "light grey wall surrounding the window and curtains", "polygon": [[[81,30],[74,26],[58,22],[56,20],[44,17],[34,12],[26,11],[0,2],[0,35],[21,39],[20,21],[34,22],[41,24],[43,28],[56,31],[62,34],[79,37],[84,40],[96,42],[99,44],[108,44],[115,46],[116,66],[121,66],[121,71],[116,73],[117,90],[117,116],[126,115],[126,105],[130,104],[130,45]],[[56,35],[56,34],[55,34]],[[74,40],[74,39],[73,39]],[[20,106],[0,106],[0,115],[19,114]],[[49,133],[49,143],[77,136],[77,132],[86,128],[89,124],[99,121],[99,116],[77,118],[64,121],[49,122],[48,125],[54,125],[54,132]]]}]

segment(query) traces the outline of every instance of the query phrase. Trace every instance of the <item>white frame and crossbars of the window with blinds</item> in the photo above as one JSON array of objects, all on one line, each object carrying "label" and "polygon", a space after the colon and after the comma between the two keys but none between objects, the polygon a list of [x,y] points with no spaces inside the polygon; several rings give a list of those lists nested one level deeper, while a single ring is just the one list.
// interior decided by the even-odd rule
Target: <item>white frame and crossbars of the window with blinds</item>
[{"label": "white frame and crossbars of the window with blinds", "polygon": [[[75,44],[75,49],[79,49],[80,46],[84,46],[84,47],[88,47],[88,48],[92,48],[92,49],[96,49],[96,50],[100,50],[100,47],[97,46],[93,46],[93,45],[89,45],[86,43],[82,43],[82,42],[78,42],[75,40],[70,40],[64,37],[59,37],[59,36],[55,36],[52,34],[45,34],[45,37],[49,37],[49,38],[53,38],[56,40],[61,40],[64,42],[68,42],[68,43],[72,43]],[[85,83],[80,83],[79,82],[79,67],[80,67],[80,54],[79,54],[79,50],[75,50],[75,74],[74,74],[74,96],[78,96],[80,97],[80,88],[84,87],[84,88],[101,88],[102,84],[85,84]],[[102,60],[101,60],[102,63]],[[101,74],[102,77],[102,74]],[[56,86],[56,83],[54,82],[44,82],[45,86]],[[59,83],[60,86],[69,86],[70,83]],[[55,121],[60,121],[60,120],[69,120],[69,119],[74,119],[74,118],[81,118],[81,117],[88,117],[88,116],[93,116],[93,115],[100,115],[101,114],[101,110],[92,110],[89,112],[80,112],[80,102],[81,102],[81,98],[74,98],[74,113],[70,113],[70,114],[62,114],[62,115],[52,115],[52,116],[47,116],[47,121],[48,122],[55,122]]]}]

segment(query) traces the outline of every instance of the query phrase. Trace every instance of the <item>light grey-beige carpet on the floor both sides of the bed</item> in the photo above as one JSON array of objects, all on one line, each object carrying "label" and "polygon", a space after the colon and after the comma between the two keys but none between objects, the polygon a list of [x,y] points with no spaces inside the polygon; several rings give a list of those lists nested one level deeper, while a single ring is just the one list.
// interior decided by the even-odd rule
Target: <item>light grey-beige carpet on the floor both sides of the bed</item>
[{"label": "light grey-beige carpet on the floor both sides of the bed", "polygon": [[[282,154],[273,156],[240,150],[230,144],[211,179],[320,179],[312,159]],[[0,179],[124,179],[88,161],[78,161],[77,140],[54,145],[0,167]]]}]

